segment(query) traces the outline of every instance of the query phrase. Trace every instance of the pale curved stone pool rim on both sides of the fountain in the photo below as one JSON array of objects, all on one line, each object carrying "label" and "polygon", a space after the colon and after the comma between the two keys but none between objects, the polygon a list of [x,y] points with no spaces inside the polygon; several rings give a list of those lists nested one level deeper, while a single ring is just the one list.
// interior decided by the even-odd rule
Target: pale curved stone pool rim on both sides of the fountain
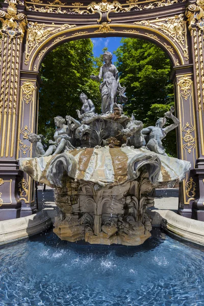
[{"label": "pale curved stone pool rim on both sides of the fountain", "polygon": [[[170,210],[151,210],[152,227],[185,241],[204,246],[204,222],[177,215]],[[53,218],[44,209],[37,214],[0,221],[0,245],[40,234],[53,225]]]}]

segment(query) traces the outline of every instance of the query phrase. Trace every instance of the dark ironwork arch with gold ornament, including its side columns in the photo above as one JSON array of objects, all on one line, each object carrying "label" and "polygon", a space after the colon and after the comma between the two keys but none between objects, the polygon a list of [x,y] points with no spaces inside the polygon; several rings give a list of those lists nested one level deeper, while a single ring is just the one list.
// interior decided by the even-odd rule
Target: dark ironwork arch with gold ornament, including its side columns
[{"label": "dark ironwork arch with gold ornament, including its side columns", "polygon": [[[0,10],[0,153],[2,165],[8,167],[6,172],[0,169],[3,219],[8,211],[9,218],[15,218],[36,210],[34,183],[22,176],[16,160],[32,155],[28,135],[37,129],[39,67],[44,56],[68,40],[125,36],[158,44],[172,61],[175,107],[181,121],[178,154],[192,164],[181,187],[180,213],[191,217],[193,207],[193,217],[204,220],[204,7],[201,0],[191,1],[187,9],[186,5],[185,0],[5,0]],[[7,200],[11,196],[12,201]]]}]

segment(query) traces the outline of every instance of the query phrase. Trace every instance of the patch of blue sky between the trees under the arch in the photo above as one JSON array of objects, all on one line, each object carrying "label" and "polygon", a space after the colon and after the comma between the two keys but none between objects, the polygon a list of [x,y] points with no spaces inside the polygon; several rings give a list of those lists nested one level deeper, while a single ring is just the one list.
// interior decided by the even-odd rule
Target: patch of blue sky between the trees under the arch
[{"label": "patch of blue sky between the trees under the arch", "polygon": [[[120,45],[122,37],[106,37],[106,38],[92,38],[93,43],[93,54],[94,56],[99,56],[102,53],[102,49],[104,47],[107,47],[109,52],[113,54],[113,51],[115,51],[118,46]],[[113,63],[116,62],[116,56],[113,55]]]}]

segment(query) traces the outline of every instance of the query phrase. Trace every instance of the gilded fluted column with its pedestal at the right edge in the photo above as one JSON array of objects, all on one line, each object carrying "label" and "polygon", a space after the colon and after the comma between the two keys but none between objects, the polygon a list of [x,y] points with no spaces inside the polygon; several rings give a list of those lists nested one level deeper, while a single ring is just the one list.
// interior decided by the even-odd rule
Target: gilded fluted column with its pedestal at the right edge
[{"label": "gilded fluted column with its pedestal at the right edge", "polygon": [[195,83],[195,111],[197,123],[197,160],[195,165],[195,200],[192,203],[192,217],[204,221],[204,41],[202,21],[204,4],[197,0],[196,4],[187,8],[187,19],[189,21],[189,31],[191,34],[192,56],[194,66]]}]

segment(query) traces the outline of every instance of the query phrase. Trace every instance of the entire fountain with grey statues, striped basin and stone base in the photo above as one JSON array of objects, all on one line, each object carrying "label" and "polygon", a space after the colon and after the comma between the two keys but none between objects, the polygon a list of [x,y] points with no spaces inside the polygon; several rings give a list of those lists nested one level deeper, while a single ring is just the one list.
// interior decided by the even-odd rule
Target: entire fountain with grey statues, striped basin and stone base
[{"label": "entire fountain with grey statues, striped basin and stone base", "polygon": [[[62,240],[91,244],[140,245],[151,236],[145,212],[154,206],[152,191],[184,179],[190,163],[168,157],[162,146],[166,134],[180,124],[174,109],[156,126],[123,114],[127,98],[118,71],[105,52],[98,76],[101,114],[82,93],[79,121],[55,117],[54,140],[44,152],[40,136],[30,135],[34,158],[20,159],[20,166],[35,181],[55,188],[61,209],[54,232]],[[173,124],[164,127],[166,117]]]}]

